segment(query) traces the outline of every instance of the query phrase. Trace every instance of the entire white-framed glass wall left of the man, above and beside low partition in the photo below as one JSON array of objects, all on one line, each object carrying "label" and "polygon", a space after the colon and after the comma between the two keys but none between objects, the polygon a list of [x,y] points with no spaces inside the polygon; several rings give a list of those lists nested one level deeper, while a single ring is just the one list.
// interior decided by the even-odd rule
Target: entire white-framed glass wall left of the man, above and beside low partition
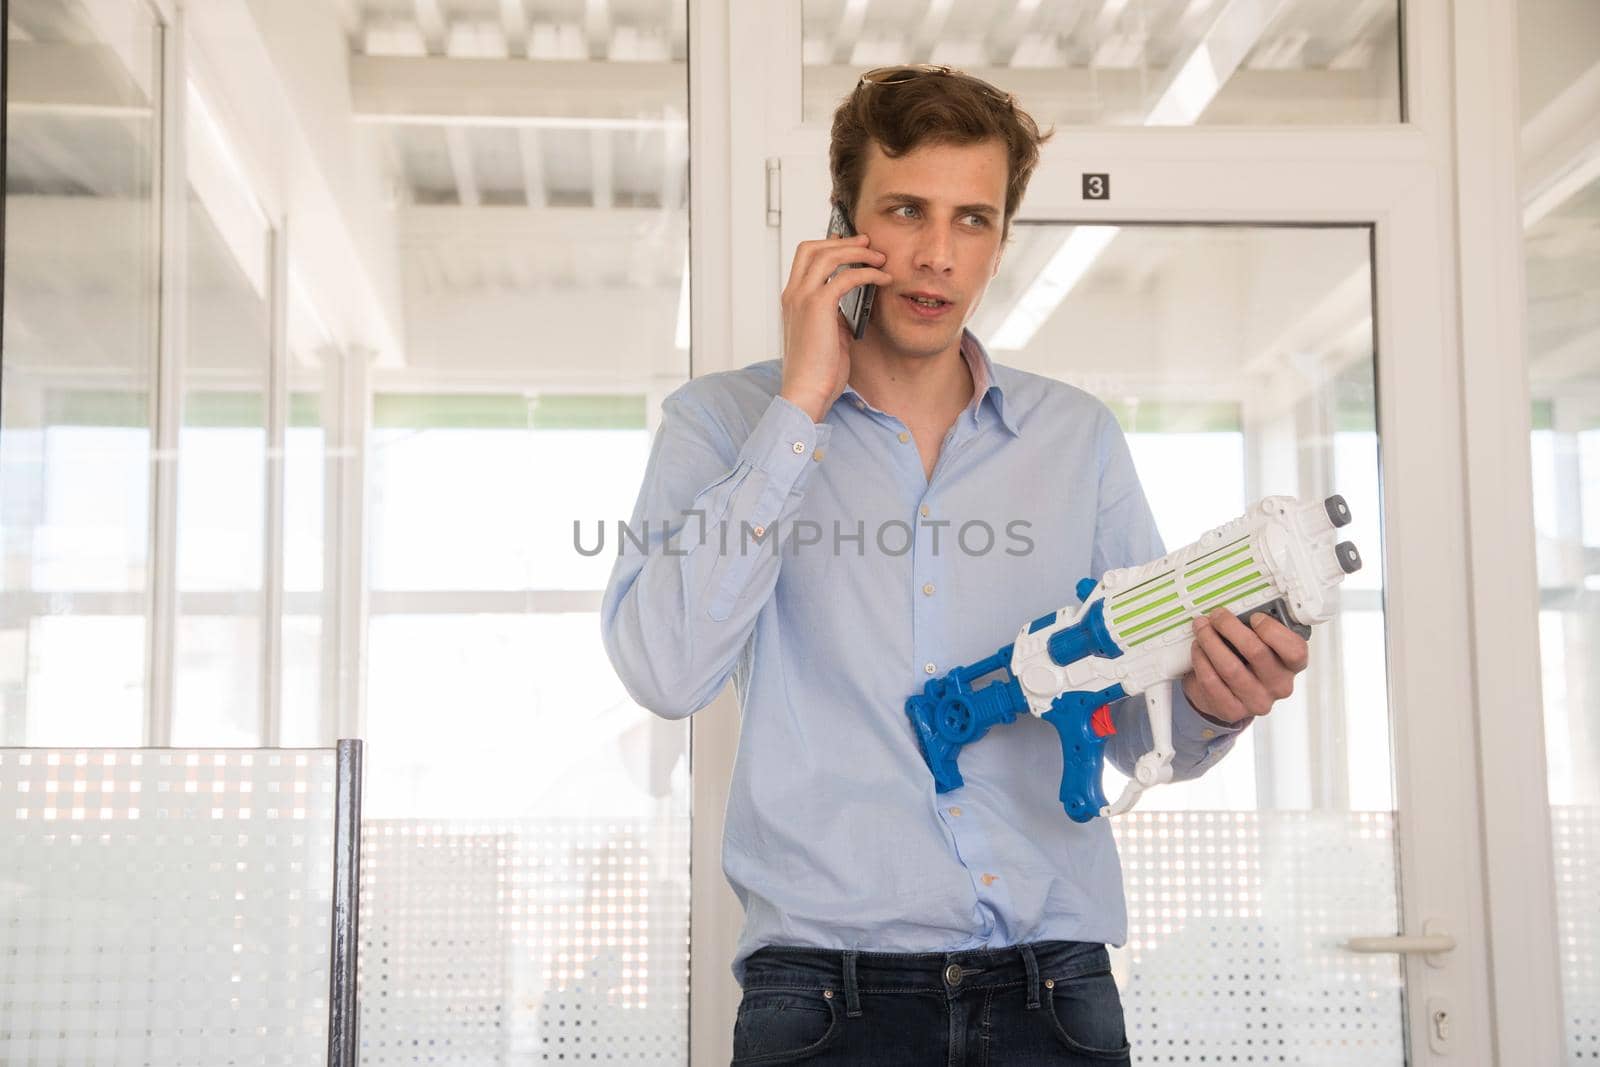
[{"label": "entire white-framed glass wall left of the man, above and beside low partition", "polygon": [[[611,673],[574,520],[630,514],[690,376],[688,5],[342,5],[378,237],[274,214],[338,206],[261,150],[326,86],[248,107],[206,16],[10,5],[0,747],[365,736],[363,1057],[685,1062],[688,726]],[[533,91],[384,96],[434,59]],[[392,350],[296,269],[346,222]]]}]

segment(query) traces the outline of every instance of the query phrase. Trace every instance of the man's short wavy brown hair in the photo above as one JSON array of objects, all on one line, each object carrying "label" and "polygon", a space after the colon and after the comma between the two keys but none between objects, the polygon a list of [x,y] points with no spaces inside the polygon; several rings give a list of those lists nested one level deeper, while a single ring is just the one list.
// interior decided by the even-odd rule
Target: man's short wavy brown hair
[{"label": "man's short wavy brown hair", "polygon": [[[1038,146],[1054,133],[1038,123],[982,78],[949,67],[906,67],[904,80],[862,78],[834,112],[827,162],[834,174],[834,200],[856,218],[861,178],[867,170],[867,146],[877,142],[893,158],[925,144],[978,144],[1000,141],[1006,149],[1005,227],[1022,203],[1027,179],[1038,166]],[[880,74],[877,70],[869,72]],[[894,70],[890,77],[901,74]]]}]

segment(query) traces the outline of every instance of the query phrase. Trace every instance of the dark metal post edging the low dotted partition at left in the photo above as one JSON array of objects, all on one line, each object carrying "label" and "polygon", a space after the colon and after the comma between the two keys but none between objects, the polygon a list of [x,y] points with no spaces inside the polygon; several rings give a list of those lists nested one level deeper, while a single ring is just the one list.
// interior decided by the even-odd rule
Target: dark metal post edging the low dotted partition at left
[{"label": "dark metal post edging the low dotted partition at left", "polygon": [[339,742],[333,822],[333,950],[328,966],[328,1067],[357,1067],[360,1017],[355,963],[360,947],[362,753],[365,742]]}]

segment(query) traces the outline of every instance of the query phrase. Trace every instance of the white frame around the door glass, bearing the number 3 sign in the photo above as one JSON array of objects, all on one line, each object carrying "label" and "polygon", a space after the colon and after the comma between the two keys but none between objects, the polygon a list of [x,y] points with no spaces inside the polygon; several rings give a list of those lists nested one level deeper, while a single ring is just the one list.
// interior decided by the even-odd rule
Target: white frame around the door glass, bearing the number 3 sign
[{"label": "white frame around the door glass, bearing the number 3 sign", "polygon": [[[1530,728],[1517,24],[1512,0],[1466,6],[1451,18],[1406,5],[1405,125],[1061,128],[1018,218],[1374,227],[1402,915],[1411,933],[1440,920],[1459,944],[1442,968],[1406,966],[1411,1062],[1554,1064],[1554,878],[1542,734]],[[693,373],[704,374],[778,354],[789,250],[765,224],[766,162],[787,160],[781,178],[814,189],[827,130],[800,118],[800,0],[698,3],[691,50]],[[1115,198],[1083,202],[1082,171],[1112,173]],[[691,1057],[710,1064],[728,1059],[738,1003],[728,960],[741,915],[715,862],[738,710],[723,694],[694,718]],[[1448,1059],[1429,1051],[1430,1005],[1451,1013]]]}]

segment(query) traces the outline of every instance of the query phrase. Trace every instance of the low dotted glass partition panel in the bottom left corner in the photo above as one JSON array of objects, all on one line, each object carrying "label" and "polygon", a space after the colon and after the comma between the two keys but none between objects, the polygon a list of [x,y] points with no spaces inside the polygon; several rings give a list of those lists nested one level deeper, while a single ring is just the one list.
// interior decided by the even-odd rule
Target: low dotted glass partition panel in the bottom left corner
[{"label": "low dotted glass partition panel in the bottom left corner", "polygon": [[326,1059],[331,750],[0,749],[0,1064]]}]

